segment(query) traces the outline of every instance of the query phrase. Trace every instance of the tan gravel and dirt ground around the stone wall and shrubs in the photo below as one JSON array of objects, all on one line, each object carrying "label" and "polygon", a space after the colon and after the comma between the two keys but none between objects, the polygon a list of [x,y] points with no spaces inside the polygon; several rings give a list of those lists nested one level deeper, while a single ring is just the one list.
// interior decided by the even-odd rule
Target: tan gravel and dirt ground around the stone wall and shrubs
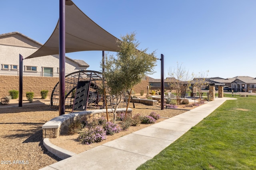
[{"label": "tan gravel and dirt ground around the stone wall and shrubs", "polygon": [[[28,105],[26,105],[28,104]],[[42,139],[42,125],[50,119],[58,116],[59,112],[49,107],[49,100],[35,100],[31,104],[24,100],[23,107],[17,107],[17,100],[11,101],[8,107],[0,104],[0,169],[2,170],[37,170],[53,164],[60,159],[45,149]],[[149,115],[155,111],[162,117],[173,117],[186,110],[160,109],[158,106],[146,106],[135,104],[132,108],[133,115]],[[192,109],[191,107],[189,107]],[[160,119],[160,121],[164,118]],[[130,127],[128,131],[108,136],[102,143],[114,140],[118,137],[142,129],[148,125]],[[75,141],[78,135],[62,135],[50,141],[64,149],[75,153],[91,149],[102,143],[82,145]]]}]

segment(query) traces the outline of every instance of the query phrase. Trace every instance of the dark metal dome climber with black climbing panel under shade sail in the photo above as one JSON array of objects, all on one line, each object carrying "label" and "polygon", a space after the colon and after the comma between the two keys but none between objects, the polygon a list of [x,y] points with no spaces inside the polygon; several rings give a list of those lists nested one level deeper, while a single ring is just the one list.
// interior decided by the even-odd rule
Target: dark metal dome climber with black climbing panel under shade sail
[{"label": "dark metal dome climber with black climbing panel under shade sail", "polygon": [[[102,93],[102,73],[91,70],[73,72],[65,76],[65,109],[86,110],[89,104],[98,105]],[[51,108],[59,107],[59,82],[51,95]]]}]

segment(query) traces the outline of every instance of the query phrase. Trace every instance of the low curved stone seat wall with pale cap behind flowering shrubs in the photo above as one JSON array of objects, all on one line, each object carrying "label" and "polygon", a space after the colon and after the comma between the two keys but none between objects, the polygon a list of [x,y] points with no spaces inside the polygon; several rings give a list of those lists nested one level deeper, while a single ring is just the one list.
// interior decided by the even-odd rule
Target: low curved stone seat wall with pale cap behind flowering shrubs
[{"label": "low curved stone seat wall with pale cap behind flowering shrubs", "polygon": [[[126,108],[118,108],[116,114],[125,112]],[[86,121],[92,118],[99,118],[102,116],[102,113],[106,113],[106,109],[97,109],[90,111],[79,111],[68,113],[65,115],[60,115],[58,117],[54,117],[50,121],[46,122],[42,126],[43,130],[43,138],[56,138],[60,135],[60,133],[66,129],[68,126],[76,121]],[[108,109],[108,113],[112,113],[112,109]],[[132,109],[128,108],[127,114],[132,114]]]}]

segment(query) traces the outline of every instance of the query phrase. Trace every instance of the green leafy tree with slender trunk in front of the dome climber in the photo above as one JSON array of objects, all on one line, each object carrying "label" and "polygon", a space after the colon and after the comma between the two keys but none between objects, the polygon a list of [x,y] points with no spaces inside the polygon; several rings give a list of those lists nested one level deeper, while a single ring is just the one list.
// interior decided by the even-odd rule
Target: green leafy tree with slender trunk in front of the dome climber
[{"label": "green leafy tree with slender trunk in front of the dome climber", "polygon": [[106,54],[104,72],[102,73],[106,80],[106,86],[110,89],[110,95],[116,96],[116,105],[113,111],[114,123],[116,109],[120,105],[122,95],[140,83],[143,76],[153,74],[157,60],[155,51],[147,54],[147,49],[138,50],[140,43],[136,41],[135,33],[121,36],[121,40],[117,40],[117,44],[120,50],[116,56]]}]

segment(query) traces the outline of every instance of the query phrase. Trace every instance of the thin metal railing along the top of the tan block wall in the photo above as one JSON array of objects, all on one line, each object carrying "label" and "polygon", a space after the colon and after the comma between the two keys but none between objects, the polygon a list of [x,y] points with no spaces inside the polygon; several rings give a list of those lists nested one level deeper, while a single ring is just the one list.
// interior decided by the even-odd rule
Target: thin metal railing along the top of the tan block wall
[{"label": "thin metal railing along the top of the tan block wall", "polygon": [[[69,73],[66,73],[68,75]],[[0,70],[0,75],[19,76],[18,70]],[[23,71],[23,76],[59,77],[58,72]]]}]

